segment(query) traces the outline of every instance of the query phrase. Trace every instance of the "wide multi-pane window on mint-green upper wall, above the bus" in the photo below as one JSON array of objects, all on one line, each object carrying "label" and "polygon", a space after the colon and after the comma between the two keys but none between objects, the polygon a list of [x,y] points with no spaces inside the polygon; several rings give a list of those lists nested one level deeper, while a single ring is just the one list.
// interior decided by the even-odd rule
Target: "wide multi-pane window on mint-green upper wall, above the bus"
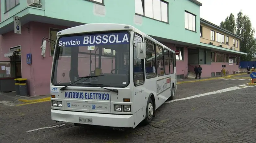
[{"label": "wide multi-pane window on mint-green upper wall, above the bus", "polygon": [[162,0],[135,0],[135,13],[168,22],[168,2]]}]

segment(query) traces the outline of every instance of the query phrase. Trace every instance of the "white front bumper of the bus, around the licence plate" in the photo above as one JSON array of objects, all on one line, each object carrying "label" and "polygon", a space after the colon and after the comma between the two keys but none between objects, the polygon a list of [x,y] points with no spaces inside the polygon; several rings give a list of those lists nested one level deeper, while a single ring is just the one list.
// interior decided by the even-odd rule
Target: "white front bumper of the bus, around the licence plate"
[{"label": "white front bumper of the bus, around the licence plate", "polygon": [[[92,119],[92,123],[79,122],[79,119]],[[115,115],[51,109],[51,120],[109,127],[133,127],[133,115]]]}]

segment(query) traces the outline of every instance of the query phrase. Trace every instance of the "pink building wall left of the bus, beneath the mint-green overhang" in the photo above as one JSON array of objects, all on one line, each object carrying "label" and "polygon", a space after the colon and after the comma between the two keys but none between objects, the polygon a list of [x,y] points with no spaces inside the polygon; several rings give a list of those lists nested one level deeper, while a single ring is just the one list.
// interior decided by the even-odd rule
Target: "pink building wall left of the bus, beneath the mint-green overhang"
[{"label": "pink building wall left of the bus, beneath the mint-green overhang", "polygon": [[[10,61],[4,54],[10,51],[10,47],[21,46],[22,78],[28,79],[29,95],[46,95],[50,93],[50,76],[52,57],[50,56],[49,43],[46,44],[45,57],[41,56],[41,43],[43,37],[49,37],[50,27],[66,29],[40,22],[30,22],[22,26],[22,34],[14,34],[14,31],[3,34],[0,37],[0,61]],[[26,63],[26,54],[31,53],[32,64]]]}]

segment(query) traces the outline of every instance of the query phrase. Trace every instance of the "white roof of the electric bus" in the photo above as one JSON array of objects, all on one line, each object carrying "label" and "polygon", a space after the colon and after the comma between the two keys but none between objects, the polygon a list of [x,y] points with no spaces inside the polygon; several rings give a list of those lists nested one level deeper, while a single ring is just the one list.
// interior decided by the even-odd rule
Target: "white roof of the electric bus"
[{"label": "white roof of the electric bus", "polygon": [[[120,31],[120,30],[132,30],[135,31],[136,33],[142,35],[143,37],[147,38],[148,40],[151,40],[152,42],[155,42],[159,46],[166,47],[156,39],[153,39],[149,35],[143,33],[139,29],[127,25],[127,24],[117,24],[117,23],[90,23],[90,24],[84,24],[76,27],[71,27],[68,29],[64,29],[60,32],[57,33],[57,36],[61,35],[73,35],[73,34],[78,34],[78,33],[87,33],[87,32],[100,32],[100,31]],[[168,48],[169,51],[174,52],[170,48]]]}]

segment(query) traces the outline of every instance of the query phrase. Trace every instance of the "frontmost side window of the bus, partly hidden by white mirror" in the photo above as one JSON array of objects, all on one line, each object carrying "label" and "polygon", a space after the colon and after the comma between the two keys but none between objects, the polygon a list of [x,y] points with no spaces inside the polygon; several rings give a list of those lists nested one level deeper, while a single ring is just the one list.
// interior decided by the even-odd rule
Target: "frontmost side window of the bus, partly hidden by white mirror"
[{"label": "frontmost side window of the bus, partly hidden by white mirror", "polygon": [[133,54],[133,80],[134,85],[143,84],[144,83],[144,59],[137,58],[137,47],[136,43],[141,42],[142,38],[138,35],[135,35],[134,38],[134,54]]}]

